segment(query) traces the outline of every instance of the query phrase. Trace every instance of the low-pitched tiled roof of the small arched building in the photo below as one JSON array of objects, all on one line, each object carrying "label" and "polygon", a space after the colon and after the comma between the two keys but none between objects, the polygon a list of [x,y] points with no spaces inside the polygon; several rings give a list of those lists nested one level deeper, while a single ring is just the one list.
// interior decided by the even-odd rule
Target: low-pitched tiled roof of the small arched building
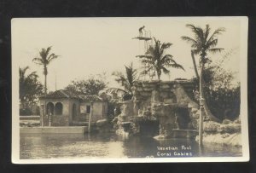
[{"label": "low-pitched tiled roof of the small arched building", "polygon": [[63,98],[73,98],[79,99],[82,101],[102,101],[102,98],[97,95],[84,95],[84,94],[75,94],[73,92],[67,90],[56,90],[53,93],[49,93],[48,95],[41,96],[40,98],[44,99],[63,99]]}]

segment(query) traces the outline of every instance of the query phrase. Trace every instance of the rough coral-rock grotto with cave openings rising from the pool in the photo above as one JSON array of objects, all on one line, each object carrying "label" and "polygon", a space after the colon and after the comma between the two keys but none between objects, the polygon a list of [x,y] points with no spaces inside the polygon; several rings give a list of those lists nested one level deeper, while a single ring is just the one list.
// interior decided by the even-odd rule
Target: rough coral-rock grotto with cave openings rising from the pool
[{"label": "rough coral-rock grotto with cave openings rising from the pool", "polygon": [[[132,88],[131,101],[123,102],[117,124],[129,122],[134,117],[158,120],[161,136],[171,136],[173,129],[196,129],[199,106],[191,97],[192,89],[193,84],[187,80],[138,81]],[[180,109],[187,115],[178,112]]]}]

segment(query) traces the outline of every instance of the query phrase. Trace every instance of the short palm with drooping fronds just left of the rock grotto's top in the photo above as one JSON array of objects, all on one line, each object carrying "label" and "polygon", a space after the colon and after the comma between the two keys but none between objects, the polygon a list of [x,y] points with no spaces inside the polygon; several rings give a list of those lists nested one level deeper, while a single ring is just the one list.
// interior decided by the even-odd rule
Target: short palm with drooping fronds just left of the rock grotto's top
[{"label": "short palm with drooping fronds just left of the rock grotto's top", "polygon": [[109,88],[107,89],[107,92],[132,95],[131,88],[138,79],[137,70],[133,67],[132,63],[130,66],[125,66],[125,74],[123,74],[122,72],[113,72],[113,76],[116,77],[115,81],[121,84],[124,89]]}]

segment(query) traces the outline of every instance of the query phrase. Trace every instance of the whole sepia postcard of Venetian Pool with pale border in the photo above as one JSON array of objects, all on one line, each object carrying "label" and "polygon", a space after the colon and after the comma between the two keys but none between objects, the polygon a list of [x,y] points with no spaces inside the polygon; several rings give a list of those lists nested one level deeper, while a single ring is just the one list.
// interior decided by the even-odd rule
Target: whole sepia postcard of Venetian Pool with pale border
[{"label": "whole sepia postcard of Venetian Pool with pale border", "polygon": [[13,163],[249,160],[247,17],[11,23]]}]

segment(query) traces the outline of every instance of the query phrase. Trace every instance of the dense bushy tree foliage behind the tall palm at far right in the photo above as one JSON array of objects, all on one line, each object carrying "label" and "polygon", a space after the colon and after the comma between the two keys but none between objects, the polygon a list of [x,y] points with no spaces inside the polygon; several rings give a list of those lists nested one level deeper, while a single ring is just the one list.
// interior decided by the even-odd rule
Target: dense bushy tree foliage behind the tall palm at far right
[{"label": "dense bushy tree foliage behind the tall palm at far right", "polygon": [[[225,70],[223,65],[207,66],[204,73],[205,96],[211,112],[219,119],[235,119],[240,113],[240,84],[235,83],[235,73]],[[199,80],[194,78],[195,94],[199,100]]]}]

